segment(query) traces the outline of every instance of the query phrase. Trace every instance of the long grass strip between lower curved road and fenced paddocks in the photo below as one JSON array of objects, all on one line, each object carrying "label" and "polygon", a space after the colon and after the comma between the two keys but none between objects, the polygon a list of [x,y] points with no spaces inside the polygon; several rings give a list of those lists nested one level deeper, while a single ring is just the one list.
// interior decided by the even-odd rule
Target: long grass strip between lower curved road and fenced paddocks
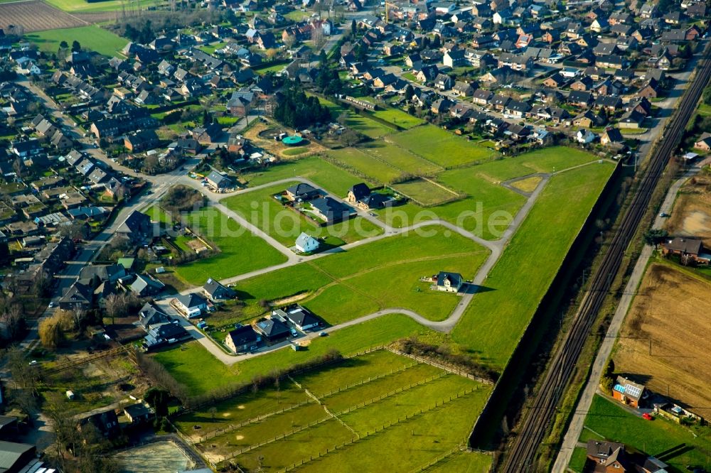
[{"label": "long grass strip between lower curved road and fenced paddocks", "polygon": [[413,335],[423,339],[434,336],[432,330],[422,327],[407,315],[389,314],[338,330],[328,337],[313,339],[306,349],[299,352],[285,347],[232,366],[227,366],[213,357],[197,341],[172,347],[152,356],[186,386],[188,394],[199,396],[227,386],[249,383],[255,376],[322,357],[332,349],[342,354],[351,354]]}]

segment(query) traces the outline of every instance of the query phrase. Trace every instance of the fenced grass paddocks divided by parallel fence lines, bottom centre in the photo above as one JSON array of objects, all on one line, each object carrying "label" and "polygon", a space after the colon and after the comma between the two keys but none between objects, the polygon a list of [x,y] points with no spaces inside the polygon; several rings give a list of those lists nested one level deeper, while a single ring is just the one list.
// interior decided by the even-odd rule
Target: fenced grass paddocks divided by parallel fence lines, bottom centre
[{"label": "fenced grass paddocks divided by parallel fence lines, bottom centre", "polygon": [[210,460],[228,457],[246,471],[301,461],[306,471],[413,469],[464,444],[471,419],[461,414],[479,411],[490,391],[378,350],[238,395],[177,425]]}]

